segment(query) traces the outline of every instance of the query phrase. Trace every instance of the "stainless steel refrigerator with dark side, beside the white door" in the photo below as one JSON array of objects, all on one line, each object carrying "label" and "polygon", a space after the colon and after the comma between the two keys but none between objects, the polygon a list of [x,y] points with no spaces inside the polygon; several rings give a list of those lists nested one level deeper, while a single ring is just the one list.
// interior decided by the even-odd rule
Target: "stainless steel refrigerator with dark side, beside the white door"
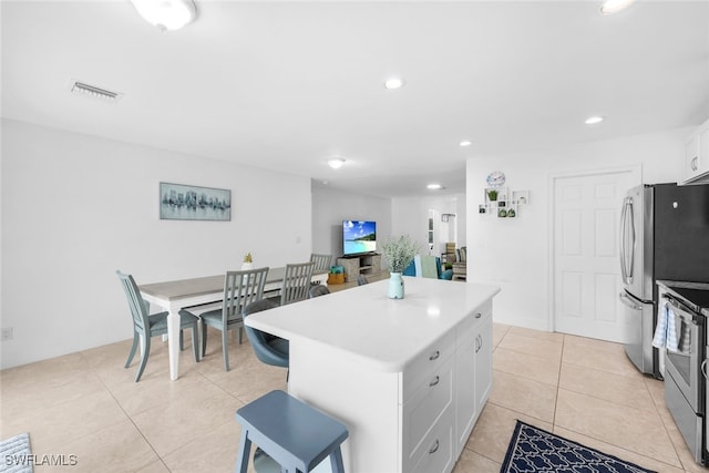
[{"label": "stainless steel refrigerator with dark side, beside the white door", "polygon": [[709,282],[709,185],[655,184],[628,191],[620,213],[620,301],[628,358],[661,378],[653,348],[657,279]]}]

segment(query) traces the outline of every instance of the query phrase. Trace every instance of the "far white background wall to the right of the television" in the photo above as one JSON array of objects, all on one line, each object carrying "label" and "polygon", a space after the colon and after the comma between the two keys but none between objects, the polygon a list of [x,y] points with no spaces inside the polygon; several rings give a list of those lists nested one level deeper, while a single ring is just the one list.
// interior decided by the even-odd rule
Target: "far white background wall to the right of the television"
[{"label": "far white background wall to the right of the television", "polygon": [[[476,208],[476,207],[475,207]],[[466,199],[465,194],[422,196],[422,197],[395,197],[391,203],[392,234],[409,235],[419,243],[421,254],[429,253],[429,210],[436,213],[433,220],[433,235],[438,239],[441,236],[441,214],[455,214],[458,219],[458,247],[466,246]],[[442,237],[442,236],[441,236]],[[445,240],[441,239],[433,248],[433,255],[439,256],[445,249]]]}]

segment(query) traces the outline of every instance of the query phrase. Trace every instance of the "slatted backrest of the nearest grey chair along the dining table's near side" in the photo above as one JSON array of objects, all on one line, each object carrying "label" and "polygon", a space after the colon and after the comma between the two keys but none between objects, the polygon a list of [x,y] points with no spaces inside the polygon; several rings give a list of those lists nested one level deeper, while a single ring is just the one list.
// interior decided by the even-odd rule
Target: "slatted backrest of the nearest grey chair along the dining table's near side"
[{"label": "slatted backrest of the nearest grey chair along the dining table's near side", "polygon": [[244,307],[264,298],[266,275],[268,267],[226,273],[222,306],[222,323],[225,329],[229,321],[242,318]]}]

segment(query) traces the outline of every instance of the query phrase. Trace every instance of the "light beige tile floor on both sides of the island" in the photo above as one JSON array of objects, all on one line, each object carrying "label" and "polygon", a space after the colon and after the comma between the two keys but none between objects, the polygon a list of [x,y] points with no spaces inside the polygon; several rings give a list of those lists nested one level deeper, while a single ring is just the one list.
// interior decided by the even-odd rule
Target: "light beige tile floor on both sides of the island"
[{"label": "light beige tile floor on both sides of the island", "polygon": [[[138,383],[136,362],[123,368],[127,340],[1,371],[0,438],[30,432],[33,453],[78,457],[40,473],[234,471],[235,411],[286,389],[286,371],[233,340],[225,372],[216,335],[195,363],[187,336],[181,378],[169,381],[155,340]],[[665,408],[662,382],[638,373],[621,346],[499,323],[493,341],[493,390],[455,473],[500,471],[516,419],[660,472],[706,472]]]}]

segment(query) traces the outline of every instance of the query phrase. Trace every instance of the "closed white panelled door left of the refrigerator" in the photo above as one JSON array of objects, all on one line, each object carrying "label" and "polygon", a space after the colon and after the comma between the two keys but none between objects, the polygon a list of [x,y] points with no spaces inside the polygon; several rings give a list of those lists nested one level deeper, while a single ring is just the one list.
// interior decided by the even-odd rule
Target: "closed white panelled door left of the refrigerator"
[{"label": "closed white panelled door left of the refrigerator", "polygon": [[625,342],[618,225],[636,168],[554,178],[555,331]]}]

